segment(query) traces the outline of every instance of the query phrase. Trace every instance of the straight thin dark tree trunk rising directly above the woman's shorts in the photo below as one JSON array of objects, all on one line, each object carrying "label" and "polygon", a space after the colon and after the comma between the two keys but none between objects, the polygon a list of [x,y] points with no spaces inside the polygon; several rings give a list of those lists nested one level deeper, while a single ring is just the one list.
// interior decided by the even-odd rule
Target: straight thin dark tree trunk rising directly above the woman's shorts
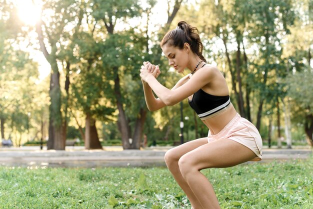
[{"label": "straight thin dark tree trunk rising directly above the woman's shorts", "polygon": [[236,76],[237,76],[237,82],[238,82],[238,109],[239,113],[242,117],[245,117],[244,107],[243,107],[243,96],[242,96],[242,85],[241,85],[241,75],[240,75],[240,69],[241,69],[241,58],[240,58],[240,42],[237,40],[237,52],[236,52]]}]

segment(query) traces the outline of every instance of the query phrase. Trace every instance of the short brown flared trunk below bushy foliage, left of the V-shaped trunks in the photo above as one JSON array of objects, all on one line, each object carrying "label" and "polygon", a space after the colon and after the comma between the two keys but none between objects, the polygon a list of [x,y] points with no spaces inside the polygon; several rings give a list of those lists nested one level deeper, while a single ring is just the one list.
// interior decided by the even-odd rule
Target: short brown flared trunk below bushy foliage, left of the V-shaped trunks
[{"label": "short brown flared trunk below bushy foliage, left of the V-shaped trunks", "polygon": [[85,123],[85,149],[102,149],[98,133],[95,127],[95,120],[90,113],[86,113]]}]

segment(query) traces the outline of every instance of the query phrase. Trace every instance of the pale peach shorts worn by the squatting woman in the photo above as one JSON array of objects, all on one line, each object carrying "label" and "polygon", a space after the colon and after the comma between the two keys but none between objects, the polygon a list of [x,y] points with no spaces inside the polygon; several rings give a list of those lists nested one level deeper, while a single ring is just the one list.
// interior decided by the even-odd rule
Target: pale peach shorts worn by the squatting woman
[{"label": "pale peach shorts worn by the squatting woman", "polygon": [[220,132],[213,135],[208,131],[208,142],[221,138],[234,140],[251,149],[257,157],[250,161],[259,161],[262,159],[262,138],[258,130],[249,120],[241,117],[238,113]]}]

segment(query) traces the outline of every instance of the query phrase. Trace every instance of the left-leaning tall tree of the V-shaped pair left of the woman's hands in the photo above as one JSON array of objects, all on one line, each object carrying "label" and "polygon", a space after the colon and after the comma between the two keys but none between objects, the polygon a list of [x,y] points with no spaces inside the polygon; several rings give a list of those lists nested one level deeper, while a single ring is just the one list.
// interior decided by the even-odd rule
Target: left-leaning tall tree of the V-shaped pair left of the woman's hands
[{"label": "left-leaning tall tree of the V-shaped pair left of the woman's hands", "polygon": [[[113,90],[116,99],[116,105],[118,109],[118,129],[121,132],[123,148],[132,148],[129,142],[130,127],[129,120],[127,118],[124,107],[124,96],[122,94],[120,83],[120,67],[123,60],[127,60],[130,57],[120,56],[119,53],[124,52],[122,48],[127,44],[124,38],[125,36],[119,36],[115,34],[114,27],[116,22],[123,19],[132,18],[139,15],[139,5],[135,0],[117,0],[117,1],[102,1],[94,0],[93,2],[93,16],[97,22],[104,24],[104,27],[108,33],[108,37],[105,40],[105,48],[103,48],[103,67],[108,71],[109,78],[113,80]],[[119,38],[120,37],[120,38]],[[122,41],[122,44],[120,44]],[[107,49],[111,49],[108,51]],[[134,143],[135,144],[135,143]]]}]

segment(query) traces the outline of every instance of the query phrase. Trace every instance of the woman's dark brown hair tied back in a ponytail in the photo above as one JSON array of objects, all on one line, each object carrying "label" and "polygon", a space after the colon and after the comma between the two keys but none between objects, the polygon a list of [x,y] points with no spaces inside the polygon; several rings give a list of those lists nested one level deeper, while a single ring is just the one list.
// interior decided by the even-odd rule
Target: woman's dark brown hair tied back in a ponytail
[{"label": "woman's dark brown hair tied back in a ponytail", "polygon": [[199,37],[199,31],[185,21],[180,21],[175,29],[169,30],[161,40],[161,47],[169,44],[179,49],[183,48],[184,43],[188,43],[193,53],[198,55],[201,60],[206,62],[202,55],[203,45]]}]

